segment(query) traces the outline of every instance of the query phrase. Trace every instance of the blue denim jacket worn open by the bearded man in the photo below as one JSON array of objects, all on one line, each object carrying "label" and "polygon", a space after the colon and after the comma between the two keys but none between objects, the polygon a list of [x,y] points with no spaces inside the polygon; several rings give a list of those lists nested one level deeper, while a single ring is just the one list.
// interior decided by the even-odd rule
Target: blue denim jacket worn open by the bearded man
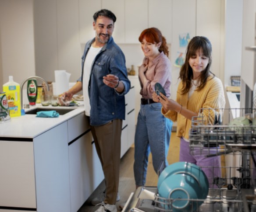
[{"label": "blue denim jacket worn open by the bearded man", "polygon": [[[85,45],[82,56],[82,76],[86,54],[95,38]],[[124,91],[120,94],[114,88],[103,83],[103,76],[114,74],[124,83]],[[82,82],[82,76],[78,81]],[[89,79],[89,99],[91,105],[90,124],[104,125],[113,119],[125,119],[124,94],[130,90],[131,82],[128,80],[124,53],[111,37],[103,46],[92,62]]]}]

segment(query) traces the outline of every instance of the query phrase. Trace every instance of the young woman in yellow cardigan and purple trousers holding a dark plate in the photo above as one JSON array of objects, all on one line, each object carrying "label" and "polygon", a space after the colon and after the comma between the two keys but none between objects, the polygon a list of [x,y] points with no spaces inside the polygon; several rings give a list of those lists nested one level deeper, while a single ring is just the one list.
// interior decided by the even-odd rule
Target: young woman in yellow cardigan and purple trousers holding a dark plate
[{"label": "young woman in yellow cardigan and purple trousers holding a dark plate", "polygon": [[[214,121],[213,110],[201,108],[224,108],[225,97],[220,79],[211,71],[212,46],[208,38],[196,36],[188,44],[185,63],[181,67],[181,82],[178,85],[176,101],[168,99],[164,95],[153,94],[153,100],[162,104],[162,113],[172,121],[177,121],[177,133],[180,137],[180,161],[195,163],[202,167],[210,187],[213,186],[213,178],[221,176],[220,157],[206,157],[202,154],[193,154],[189,151],[189,129],[192,117],[200,116],[207,123]],[[209,114],[209,111],[210,114]],[[215,148],[216,149],[216,148]],[[213,170],[214,167],[214,170]]]}]

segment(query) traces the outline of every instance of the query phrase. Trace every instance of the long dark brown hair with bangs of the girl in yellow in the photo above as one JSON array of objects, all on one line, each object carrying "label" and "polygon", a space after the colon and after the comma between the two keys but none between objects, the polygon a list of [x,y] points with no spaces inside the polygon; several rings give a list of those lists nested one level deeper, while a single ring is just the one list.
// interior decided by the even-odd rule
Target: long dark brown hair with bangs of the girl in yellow
[{"label": "long dark brown hair with bangs of the girl in yellow", "polygon": [[215,76],[210,71],[210,66],[212,64],[212,45],[208,38],[203,36],[196,36],[191,39],[191,41],[188,43],[188,48],[186,51],[186,58],[185,63],[181,66],[180,76],[183,83],[183,87],[181,89],[181,94],[186,94],[190,90],[192,86],[192,79],[193,79],[193,70],[191,66],[189,65],[189,59],[196,55],[198,51],[202,49],[203,55],[209,58],[208,65],[206,66],[206,69],[203,70],[200,74],[199,79],[199,86],[196,90],[202,90],[203,87],[206,85],[207,78],[210,76],[210,74]]}]

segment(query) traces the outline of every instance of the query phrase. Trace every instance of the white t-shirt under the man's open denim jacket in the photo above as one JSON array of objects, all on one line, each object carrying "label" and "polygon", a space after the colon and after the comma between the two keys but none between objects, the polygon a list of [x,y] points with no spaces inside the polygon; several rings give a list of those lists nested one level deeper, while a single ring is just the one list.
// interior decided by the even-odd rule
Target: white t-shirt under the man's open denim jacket
[{"label": "white t-shirt under the man's open denim jacket", "polygon": [[92,62],[94,61],[96,55],[100,52],[101,48],[90,47],[87,52],[83,70],[83,96],[84,96],[84,104],[85,104],[85,115],[90,116],[91,105],[88,93],[88,84],[90,80]]}]

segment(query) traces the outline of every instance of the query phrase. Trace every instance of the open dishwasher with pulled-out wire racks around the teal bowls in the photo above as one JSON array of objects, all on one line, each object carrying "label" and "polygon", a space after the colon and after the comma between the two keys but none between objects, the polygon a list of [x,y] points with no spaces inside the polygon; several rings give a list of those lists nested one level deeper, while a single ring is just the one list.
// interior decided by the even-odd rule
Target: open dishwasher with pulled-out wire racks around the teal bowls
[{"label": "open dishwasher with pulled-out wire racks around the teal bowls", "polygon": [[[200,116],[203,110],[208,110],[208,119]],[[224,116],[227,120],[225,124]],[[186,211],[256,212],[255,116],[255,108],[202,108],[199,116],[192,118],[189,132],[190,153],[208,151],[206,157],[220,156],[222,162],[218,168],[221,168],[222,174],[220,177],[208,178],[213,185],[209,188],[207,198],[190,199],[192,205],[196,204],[198,207],[191,207]],[[230,125],[238,117],[249,119],[250,125]],[[206,119],[214,119],[214,125],[207,123]],[[215,153],[212,149],[216,149]],[[210,168],[214,172],[216,167]],[[130,195],[122,212],[183,212],[175,209],[172,204],[186,200],[161,198],[157,186],[144,186]]]}]

